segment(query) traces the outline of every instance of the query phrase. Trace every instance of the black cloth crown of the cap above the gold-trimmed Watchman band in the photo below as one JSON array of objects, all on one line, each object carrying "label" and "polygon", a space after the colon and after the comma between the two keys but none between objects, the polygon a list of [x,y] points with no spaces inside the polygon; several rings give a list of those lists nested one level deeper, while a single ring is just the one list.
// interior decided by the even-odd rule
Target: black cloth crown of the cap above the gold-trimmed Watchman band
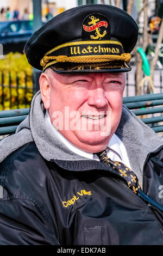
[{"label": "black cloth crown of the cap above the gold-trimmed Watchman band", "polygon": [[[133,50],[138,36],[138,27],[134,19],[126,11],[111,5],[88,4],[64,11],[33,33],[24,47],[29,64],[42,70],[40,60],[53,48],[67,42],[91,40],[89,39],[91,33],[83,32],[83,24],[86,23],[86,18],[91,21],[92,16],[90,17],[90,15],[92,14],[94,16],[99,15],[99,21],[104,20],[103,27],[105,23],[108,24],[108,38],[99,38],[99,42],[102,40],[116,40],[122,44],[124,53],[130,53]],[[87,21],[89,27],[88,24]],[[94,35],[96,31],[94,28]],[[87,36],[87,39],[84,38],[85,36]],[[65,55],[65,53],[60,53],[60,55]]]}]

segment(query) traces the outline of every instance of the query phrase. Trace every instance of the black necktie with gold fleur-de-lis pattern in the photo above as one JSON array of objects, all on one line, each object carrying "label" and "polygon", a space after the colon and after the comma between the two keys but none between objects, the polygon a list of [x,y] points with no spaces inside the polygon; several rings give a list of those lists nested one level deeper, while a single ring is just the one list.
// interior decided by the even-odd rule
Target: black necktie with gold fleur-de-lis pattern
[{"label": "black necktie with gold fleur-de-lis pattern", "polygon": [[137,194],[139,188],[141,188],[140,182],[137,179],[136,174],[130,168],[121,162],[112,161],[109,159],[106,150],[97,153],[97,156],[101,162],[104,162],[108,166],[111,166],[113,169],[117,170],[117,174],[122,176],[127,181],[129,188],[133,190],[135,194]]}]

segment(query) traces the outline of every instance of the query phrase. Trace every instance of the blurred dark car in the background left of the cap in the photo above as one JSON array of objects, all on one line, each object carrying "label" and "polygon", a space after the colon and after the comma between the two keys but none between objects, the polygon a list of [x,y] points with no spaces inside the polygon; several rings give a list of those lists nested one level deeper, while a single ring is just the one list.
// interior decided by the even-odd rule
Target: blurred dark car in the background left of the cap
[{"label": "blurred dark car in the background left of the cap", "polygon": [[24,45],[32,33],[32,20],[0,22],[0,44],[3,45],[3,54],[9,52],[23,53]]}]

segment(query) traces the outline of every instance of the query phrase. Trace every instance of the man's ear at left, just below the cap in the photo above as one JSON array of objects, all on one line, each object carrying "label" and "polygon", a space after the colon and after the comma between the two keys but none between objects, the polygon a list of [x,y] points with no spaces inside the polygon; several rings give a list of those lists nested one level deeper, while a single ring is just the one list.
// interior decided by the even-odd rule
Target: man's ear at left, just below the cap
[{"label": "man's ear at left, just below the cap", "polygon": [[42,73],[39,79],[40,92],[43,105],[46,109],[49,109],[50,105],[50,79],[47,74]]}]

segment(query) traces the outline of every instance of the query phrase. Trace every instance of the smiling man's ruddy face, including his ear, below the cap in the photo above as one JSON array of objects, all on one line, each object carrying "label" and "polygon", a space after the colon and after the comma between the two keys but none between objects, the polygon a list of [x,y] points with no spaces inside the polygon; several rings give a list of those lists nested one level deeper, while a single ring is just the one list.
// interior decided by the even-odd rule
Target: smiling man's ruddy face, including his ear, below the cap
[{"label": "smiling man's ruddy face, including his ear, below the cap", "polygon": [[108,146],[120,123],[124,86],[121,72],[57,74],[48,69],[40,78],[52,124],[76,147],[92,153]]}]

